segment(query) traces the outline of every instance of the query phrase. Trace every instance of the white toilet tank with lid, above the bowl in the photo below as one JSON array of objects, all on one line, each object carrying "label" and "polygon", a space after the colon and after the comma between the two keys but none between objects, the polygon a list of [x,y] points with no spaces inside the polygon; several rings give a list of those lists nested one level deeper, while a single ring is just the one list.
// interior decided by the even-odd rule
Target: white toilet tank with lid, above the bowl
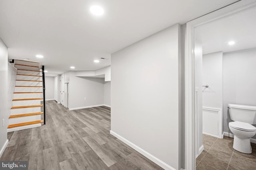
[{"label": "white toilet tank with lid, above the bowl", "polygon": [[256,124],[256,106],[228,104],[228,109],[232,121]]}]

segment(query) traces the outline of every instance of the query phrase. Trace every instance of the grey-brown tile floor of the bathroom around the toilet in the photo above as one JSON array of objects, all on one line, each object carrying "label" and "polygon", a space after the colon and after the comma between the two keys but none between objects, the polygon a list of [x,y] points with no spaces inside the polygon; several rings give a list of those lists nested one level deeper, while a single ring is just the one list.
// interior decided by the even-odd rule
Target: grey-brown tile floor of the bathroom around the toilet
[{"label": "grey-brown tile floor of the bathroom around the toilet", "polygon": [[196,170],[256,170],[256,144],[252,154],[233,149],[233,138],[219,139],[203,134],[204,151],[196,158]]}]

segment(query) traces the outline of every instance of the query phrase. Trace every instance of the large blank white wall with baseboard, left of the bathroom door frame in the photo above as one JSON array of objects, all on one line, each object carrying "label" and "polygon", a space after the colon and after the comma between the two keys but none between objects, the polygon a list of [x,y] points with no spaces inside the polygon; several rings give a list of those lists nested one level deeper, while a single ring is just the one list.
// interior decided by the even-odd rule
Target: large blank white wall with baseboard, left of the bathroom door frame
[{"label": "large blank white wall with baseboard, left of the bathroom door frame", "polygon": [[165,169],[181,167],[180,25],[111,55],[111,131]]}]

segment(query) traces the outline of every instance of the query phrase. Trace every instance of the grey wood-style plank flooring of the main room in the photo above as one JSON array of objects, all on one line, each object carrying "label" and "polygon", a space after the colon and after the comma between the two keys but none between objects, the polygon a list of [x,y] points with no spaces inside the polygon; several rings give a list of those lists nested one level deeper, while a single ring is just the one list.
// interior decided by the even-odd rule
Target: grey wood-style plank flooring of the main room
[{"label": "grey wood-style plank flooring of the main room", "polygon": [[46,101],[46,125],[10,132],[8,139],[0,160],[28,160],[29,170],[162,169],[110,135],[104,106],[69,111]]}]

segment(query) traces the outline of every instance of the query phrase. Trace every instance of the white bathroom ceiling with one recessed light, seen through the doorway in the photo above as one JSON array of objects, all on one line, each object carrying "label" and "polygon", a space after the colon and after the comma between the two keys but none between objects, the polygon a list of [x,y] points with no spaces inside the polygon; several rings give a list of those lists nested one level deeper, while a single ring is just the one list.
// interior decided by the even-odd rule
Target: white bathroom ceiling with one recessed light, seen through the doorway
[{"label": "white bathroom ceiling with one recessed light, seen through the doorway", "polygon": [[[256,47],[256,8],[196,28],[203,54],[230,52]],[[234,41],[234,45],[228,45]]]}]

